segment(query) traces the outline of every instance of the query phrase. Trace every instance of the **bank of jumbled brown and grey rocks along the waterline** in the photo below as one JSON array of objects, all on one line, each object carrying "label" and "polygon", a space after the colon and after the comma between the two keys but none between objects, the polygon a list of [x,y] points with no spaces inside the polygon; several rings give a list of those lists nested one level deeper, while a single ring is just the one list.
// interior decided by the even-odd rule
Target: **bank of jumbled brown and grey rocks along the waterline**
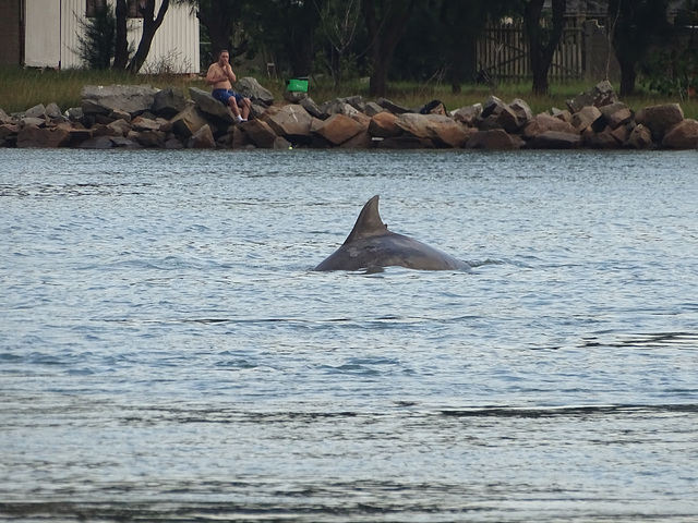
[{"label": "bank of jumbled brown and grey rocks along the waterline", "polygon": [[678,104],[637,113],[601,82],[566,109],[533,114],[528,104],[483,104],[446,112],[438,100],[408,109],[387,99],[337,98],[322,106],[304,93],[281,102],[254,78],[237,88],[253,101],[249,122],[234,124],[209,93],[149,85],[85,86],[82,106],[56,104],[23,113],[0,109],[0,147],[108,148],[350,148],[350,149],[696,149],[698,121]]}]

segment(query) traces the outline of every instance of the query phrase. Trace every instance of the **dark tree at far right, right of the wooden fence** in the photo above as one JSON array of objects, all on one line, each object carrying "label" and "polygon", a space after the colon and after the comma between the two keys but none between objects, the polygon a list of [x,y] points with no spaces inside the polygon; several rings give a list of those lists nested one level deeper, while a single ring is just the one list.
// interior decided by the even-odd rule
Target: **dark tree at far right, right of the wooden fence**
[{"label": "dark tree at far right, right of the wooden fence", "polygon": [[635,93],[637,65],[650,47],[670,31],[669,0],[610,0],[609,25],[621,65],[621,96]]}]

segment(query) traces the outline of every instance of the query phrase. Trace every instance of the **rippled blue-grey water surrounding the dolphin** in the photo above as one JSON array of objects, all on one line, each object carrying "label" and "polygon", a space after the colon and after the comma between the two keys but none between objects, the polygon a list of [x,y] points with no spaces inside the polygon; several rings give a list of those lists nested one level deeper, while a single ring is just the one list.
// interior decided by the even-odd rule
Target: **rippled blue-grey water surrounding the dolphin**
[{"label": "rippled blue-grey water surrounding the dolphin", "polygon": [[697,163],[0,149],[0,519],[696,521]]}]

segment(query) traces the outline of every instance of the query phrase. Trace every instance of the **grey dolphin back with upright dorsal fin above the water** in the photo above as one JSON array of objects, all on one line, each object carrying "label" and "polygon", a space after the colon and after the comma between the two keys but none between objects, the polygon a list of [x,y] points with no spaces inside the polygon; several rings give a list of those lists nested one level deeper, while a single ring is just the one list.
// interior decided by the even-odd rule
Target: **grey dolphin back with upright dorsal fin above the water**
[{"label": "grey dolphin back with upright dorsal fin above the water", "polygon": [[418,270],[468,270],[470,265],[411,238],[388,231],[378,214],[378,195],[363,206],[345,243],[315,270],[382,267]]}]

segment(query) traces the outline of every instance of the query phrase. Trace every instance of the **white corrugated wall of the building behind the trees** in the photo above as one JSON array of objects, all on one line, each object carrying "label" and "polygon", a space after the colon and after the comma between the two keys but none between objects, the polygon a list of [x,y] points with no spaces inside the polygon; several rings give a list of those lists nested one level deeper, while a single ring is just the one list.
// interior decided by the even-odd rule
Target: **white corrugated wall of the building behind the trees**
[{"label": "white corrugated wall of the building behind the trees", "polygon": [[[113,0],[109,0],[113,5]],[[159,8],[156,2],[156,13]],[[37,68],[71,69],[84,64],[77,56],[82,32],[79,19],[85,21],[85,0],[26,0],[25,64]],[[129,41],[137,48],[143,21],[129,19]],[[148,59],[141,72],[158,72],[163,63],[173,73],[200,72],[198,21],[184,5],[170,7],[155,34]]]}]

